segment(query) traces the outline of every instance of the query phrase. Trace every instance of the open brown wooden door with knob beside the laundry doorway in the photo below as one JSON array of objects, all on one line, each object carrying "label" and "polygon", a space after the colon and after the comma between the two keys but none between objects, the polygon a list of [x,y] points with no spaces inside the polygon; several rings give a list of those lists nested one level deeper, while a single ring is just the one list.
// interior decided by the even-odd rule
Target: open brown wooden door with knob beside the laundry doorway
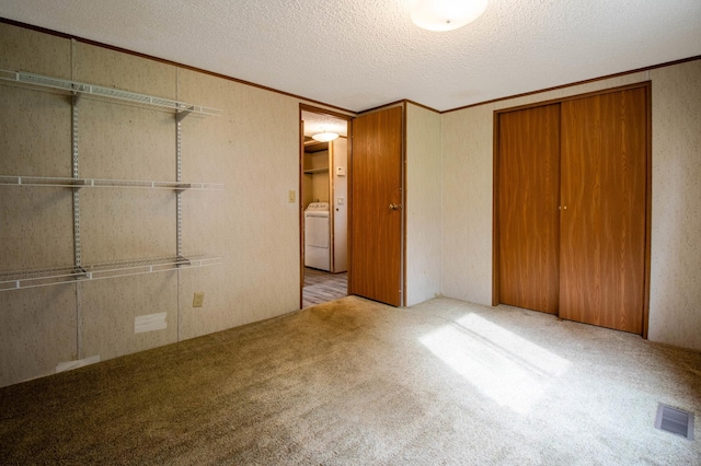
[{"label": "open brown wooden door with knob beside the laundry doorway", "polygon": [[353,120],[349,294],[402,303],[402,107]]}]

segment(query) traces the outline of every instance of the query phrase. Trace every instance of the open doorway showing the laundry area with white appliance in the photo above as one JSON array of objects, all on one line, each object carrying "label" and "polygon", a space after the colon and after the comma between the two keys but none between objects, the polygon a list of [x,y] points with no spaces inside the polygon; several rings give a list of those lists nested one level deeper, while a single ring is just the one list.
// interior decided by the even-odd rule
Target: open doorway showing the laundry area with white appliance
[{"label": "open doorway showing the laundry area with white appliance", "polygon": [[304,308],[348,294],[350,117],[304,105],[300,110],[301,307]]}]

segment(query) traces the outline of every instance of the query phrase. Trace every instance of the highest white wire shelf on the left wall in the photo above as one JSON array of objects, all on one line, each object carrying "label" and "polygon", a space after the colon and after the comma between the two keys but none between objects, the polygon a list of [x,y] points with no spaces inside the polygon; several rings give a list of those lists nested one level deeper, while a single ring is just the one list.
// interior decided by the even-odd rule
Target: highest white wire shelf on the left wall
[{"label": "highest white wire shelf on the left wall", "polygon": [[0,70],[0,80],[11,81],[22,84],[31,84],[39,88],[57,89],[70,93],[89,94],[116,101],[129,102],[138,105],[147,105],[159,108],[171,109],[176,113],[198,114],[207,116],[221,116],[222,112],[217,108],[194,105],[170,98],[154,97],[136,92],[123,91],[114,88],[104,88],[84,82],[64,80],[59,78],[45,77],[42,74],[27,73],[24,71]]}]

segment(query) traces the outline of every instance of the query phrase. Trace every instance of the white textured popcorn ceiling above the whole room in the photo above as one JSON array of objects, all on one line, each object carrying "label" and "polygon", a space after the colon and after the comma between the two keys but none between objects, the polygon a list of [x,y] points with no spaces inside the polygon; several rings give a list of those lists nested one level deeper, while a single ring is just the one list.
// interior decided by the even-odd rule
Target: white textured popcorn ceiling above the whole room
[{"label": "white textured popcorn ceiling above the whole room", "polygon": [[701,0],[490,0],[447,33],[413,0],[2,0],[0,16],[350,110],[446,110],[701,55]]}]

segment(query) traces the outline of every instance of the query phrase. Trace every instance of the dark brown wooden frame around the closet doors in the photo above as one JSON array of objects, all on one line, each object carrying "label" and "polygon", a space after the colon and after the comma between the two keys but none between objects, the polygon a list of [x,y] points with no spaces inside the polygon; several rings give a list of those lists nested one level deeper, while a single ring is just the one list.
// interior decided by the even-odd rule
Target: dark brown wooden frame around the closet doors
[{"label": "dark brown wooden frame around the closet doors", "polygon": [[635,84],[629,84],[618,88],[605,89],[601,91],[594,91],[583,94],[576,94],[567,97],[553,98],[549,101],[536,102],[527,105],[519,105],[515,107],[501,108],[494,110],[493,115],[493,182],[492,182],[492,305],[499,304],[499,115],[504,113],[522,110],[533,107],[540,107],[543,105],[560,104],[566,101],[573,101],[577,98],[586,98],[595,95],[609,94],[612,92],[627,91],[631,89],[645,90],[645,104],[646,104],[646,144],[645,144],[645,165],[646,165],[646,180],[645,180],[645,260],[643,272],[643,328],[641,336],[647,338],[648,319],[650,319],[650,269],[651,269],[651,223],[652,223],[652,81],[643,81]]}]

